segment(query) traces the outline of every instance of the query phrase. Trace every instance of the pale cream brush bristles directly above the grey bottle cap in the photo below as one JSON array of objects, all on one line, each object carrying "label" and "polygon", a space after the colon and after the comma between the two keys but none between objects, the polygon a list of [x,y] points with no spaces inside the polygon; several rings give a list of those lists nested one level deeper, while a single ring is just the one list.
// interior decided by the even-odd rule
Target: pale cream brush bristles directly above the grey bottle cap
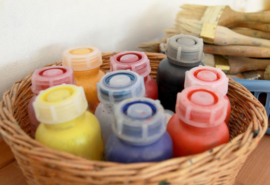
[{"label": "pale cream brush bristles directly above the grey bottle cap", "polygon": [[179,33],[190,34],[200,37],[202,22],[198,20],[191,20],[189,18],[180,18],[175,25]]}]

